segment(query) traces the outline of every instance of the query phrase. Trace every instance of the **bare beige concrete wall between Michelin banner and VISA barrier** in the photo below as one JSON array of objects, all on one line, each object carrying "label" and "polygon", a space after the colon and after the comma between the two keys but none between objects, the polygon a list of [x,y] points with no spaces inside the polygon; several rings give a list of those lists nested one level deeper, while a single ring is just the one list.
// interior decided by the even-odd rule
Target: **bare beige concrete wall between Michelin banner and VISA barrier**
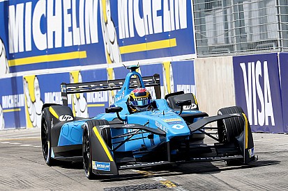
[{"label": "bare beige concrete wall between Michelin banner and VISA barrier", "polygon": [[220,108],[235,106],[232,56],[195,59],[199,109],[217,115]]}]

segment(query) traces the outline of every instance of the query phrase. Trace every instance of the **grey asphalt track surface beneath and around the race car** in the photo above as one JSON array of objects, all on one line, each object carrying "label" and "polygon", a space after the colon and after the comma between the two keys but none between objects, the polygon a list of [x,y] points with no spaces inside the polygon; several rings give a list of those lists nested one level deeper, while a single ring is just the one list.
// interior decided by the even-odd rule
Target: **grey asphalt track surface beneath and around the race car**
[{"label": "grey asphalt track surface beneath and around the race car", "polygon": [[82,163],[45,164],[39,128],[0,131],[0,190],[288,190],[288,135],[253,136],[259,160],[252,165],[190,163],[91,181]]}]

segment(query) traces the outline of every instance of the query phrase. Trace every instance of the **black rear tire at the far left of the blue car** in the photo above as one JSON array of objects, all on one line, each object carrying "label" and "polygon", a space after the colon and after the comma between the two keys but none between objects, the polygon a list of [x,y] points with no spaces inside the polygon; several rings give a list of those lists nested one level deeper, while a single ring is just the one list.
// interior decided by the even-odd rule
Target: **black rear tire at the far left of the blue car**
[{"label": "black rear tire at the far left of the blue car", "polygon": [[45,163],[49,166],[55,165],[55,160],[51,158],[51,115],[49,108],[44,108],[42,111],[41,142]]}]

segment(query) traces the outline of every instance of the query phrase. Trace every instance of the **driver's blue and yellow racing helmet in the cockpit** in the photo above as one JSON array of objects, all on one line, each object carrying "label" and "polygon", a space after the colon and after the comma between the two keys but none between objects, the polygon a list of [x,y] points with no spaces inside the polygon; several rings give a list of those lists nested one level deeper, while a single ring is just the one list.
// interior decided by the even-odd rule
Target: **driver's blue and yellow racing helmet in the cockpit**
[{"label": "driver's blue and yellow racing helmet in the cockpit", "polygon": [[151,94],[145,88],[136,88],[129,94],[128,108],[132,113],[149,110],[151,103]]}]

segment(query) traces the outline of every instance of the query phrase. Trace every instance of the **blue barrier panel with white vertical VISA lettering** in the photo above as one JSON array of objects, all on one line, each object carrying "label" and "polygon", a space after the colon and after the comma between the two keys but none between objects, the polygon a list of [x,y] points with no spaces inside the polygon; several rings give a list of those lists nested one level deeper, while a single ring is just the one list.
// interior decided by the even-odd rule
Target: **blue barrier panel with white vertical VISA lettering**
[{"label": "blue barrier panel with white vertical VISA lettering", "polygon": [[283,133],[278,54],[234,56],[236,105],[248,115],[252,131]]}]

